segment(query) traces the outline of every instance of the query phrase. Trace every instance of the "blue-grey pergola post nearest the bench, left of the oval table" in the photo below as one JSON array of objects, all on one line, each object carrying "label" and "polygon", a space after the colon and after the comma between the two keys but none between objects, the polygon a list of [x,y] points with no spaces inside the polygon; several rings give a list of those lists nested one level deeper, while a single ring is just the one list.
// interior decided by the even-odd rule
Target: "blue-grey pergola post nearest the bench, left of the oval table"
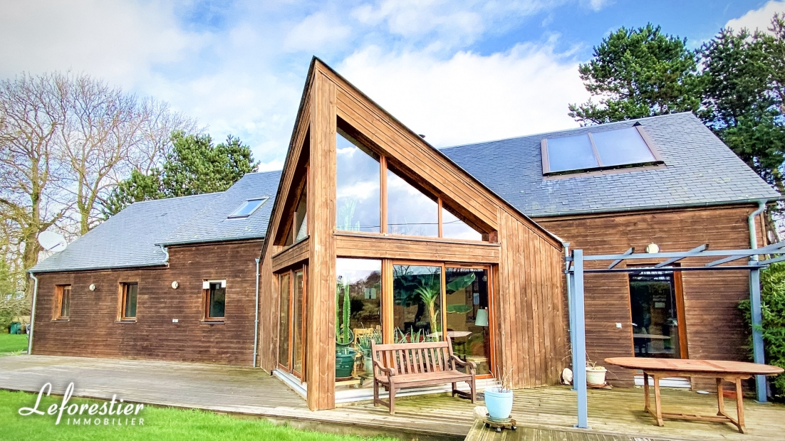
[{"label": "blue-grey pergola post nearest the bench, left of the oval table", "polygon": [[572,342],[572,384],[578,392],[578,424],[589,428],[586,397],[586,313],[583,305],[583,250],[572,251],[570,339]]}]

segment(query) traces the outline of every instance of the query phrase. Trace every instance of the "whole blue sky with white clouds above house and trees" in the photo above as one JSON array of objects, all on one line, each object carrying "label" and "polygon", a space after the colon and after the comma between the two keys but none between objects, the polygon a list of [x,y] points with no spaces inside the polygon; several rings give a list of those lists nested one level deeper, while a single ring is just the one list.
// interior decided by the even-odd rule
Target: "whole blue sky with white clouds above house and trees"
[{"label": "whole blue sky with white clouds above house and trees", "polygon": [[572,128],[579,63],[647,22],[692,48],[785,2],[0,0],[0,78],[84,72],[283,166],[312,56],[436,147]]}]

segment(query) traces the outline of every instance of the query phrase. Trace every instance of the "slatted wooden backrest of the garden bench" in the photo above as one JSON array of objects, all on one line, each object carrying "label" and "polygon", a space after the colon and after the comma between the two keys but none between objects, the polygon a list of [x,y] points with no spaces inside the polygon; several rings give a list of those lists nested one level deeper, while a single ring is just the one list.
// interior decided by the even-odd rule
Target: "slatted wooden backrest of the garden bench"
[{"label": "slatted wooden backrest of the garden bench", "polygon": [[[371,356],[384,367],[395,369],[396,375],[425,374],[450,370],[452,344],[446,342],[396,343],[377,345],[371,342]],[[382,372],[374,367],[374,374]]]}]

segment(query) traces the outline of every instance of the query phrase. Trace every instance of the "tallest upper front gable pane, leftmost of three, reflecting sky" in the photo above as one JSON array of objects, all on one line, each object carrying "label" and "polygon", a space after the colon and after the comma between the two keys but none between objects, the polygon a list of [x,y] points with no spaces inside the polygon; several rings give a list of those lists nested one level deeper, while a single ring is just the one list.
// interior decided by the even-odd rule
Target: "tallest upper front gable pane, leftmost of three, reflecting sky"
[{"label": "tallest upper front gable pane, leftmost of three, reflecting sky", "polygon": [[379,162],[349,139],[337,136],[336,225],[338,230],[381,231]]}]

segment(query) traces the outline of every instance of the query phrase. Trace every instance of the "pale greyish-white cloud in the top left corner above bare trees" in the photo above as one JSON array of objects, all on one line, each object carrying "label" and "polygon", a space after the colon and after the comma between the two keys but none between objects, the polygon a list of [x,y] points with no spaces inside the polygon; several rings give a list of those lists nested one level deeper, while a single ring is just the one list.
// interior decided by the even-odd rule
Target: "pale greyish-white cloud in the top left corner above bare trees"
[{"label": "pale greyish-white cloud in the top left corner above bare trees", "polygon": [[73,69],[132,85],[153,63],[181,60],[205,35],[181,30],[167,3],[5,2],[0,74]]}]

